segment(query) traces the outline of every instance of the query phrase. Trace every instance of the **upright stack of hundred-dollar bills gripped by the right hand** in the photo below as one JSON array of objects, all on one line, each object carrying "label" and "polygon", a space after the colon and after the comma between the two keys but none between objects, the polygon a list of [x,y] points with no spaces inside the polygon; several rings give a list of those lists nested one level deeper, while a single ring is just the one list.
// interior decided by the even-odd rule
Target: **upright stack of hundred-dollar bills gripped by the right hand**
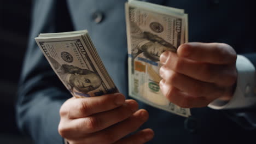
[{"label": "upright stack of hundred-dollar bills gripped by the right hand", "polygon": [[159,57],[188,42],[188,15],[183,9],[142,1],[127,2],[125,10],[129,95],[159,109],[190,116],[190,109],[170,103],[159,87]]}]

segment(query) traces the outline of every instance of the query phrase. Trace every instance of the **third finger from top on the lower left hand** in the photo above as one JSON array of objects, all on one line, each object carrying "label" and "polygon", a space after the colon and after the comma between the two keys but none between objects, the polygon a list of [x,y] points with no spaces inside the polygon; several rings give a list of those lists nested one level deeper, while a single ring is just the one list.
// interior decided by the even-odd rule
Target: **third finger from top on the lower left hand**
[{"label": "third finger from top on the lower left hand", "polygon": [[137,130],[148,119],[146,110],[138,110],[125,121],[84,138],[84,143],[114,143]]}]

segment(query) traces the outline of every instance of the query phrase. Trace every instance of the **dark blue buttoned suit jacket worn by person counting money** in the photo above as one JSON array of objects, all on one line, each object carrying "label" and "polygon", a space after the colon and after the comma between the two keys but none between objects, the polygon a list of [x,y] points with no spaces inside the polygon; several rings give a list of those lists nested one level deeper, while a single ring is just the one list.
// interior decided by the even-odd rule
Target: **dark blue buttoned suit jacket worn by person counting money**
[{"label": "dark blue buttoned suit jacket worn by person counting money", "polygon": [[[185,9],[189,41],[226,43],[256,65],[254,5],[250,1],[150,1]],[[30,43],[21,74],[17,118],[36,143],[62,143],[57,132],[59,109],[71,94],[54,74],[36,45],[39,33],[88,29],[92,41],[120,92],[127,94],[125,0],[34,1]],[[155,131],[149,143],[255,143],[255,109],[192,109],[184,118],[143,103]],[[249,142],[251,140],[251,142]]]}]

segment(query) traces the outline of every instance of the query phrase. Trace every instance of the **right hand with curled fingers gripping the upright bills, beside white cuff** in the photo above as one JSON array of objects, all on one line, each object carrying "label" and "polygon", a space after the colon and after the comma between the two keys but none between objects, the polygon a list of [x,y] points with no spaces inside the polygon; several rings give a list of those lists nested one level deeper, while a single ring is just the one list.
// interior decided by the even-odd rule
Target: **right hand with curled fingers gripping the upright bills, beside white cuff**
[{"label": "right hand with curled fingers gripping the upright bills, beside white cuff", "polygon": [[191,108],[231,99],[237,79],[236,52],[231,46],[182,44],[177,53],[162,53],[160,62],[159,85],[172,103]]}]

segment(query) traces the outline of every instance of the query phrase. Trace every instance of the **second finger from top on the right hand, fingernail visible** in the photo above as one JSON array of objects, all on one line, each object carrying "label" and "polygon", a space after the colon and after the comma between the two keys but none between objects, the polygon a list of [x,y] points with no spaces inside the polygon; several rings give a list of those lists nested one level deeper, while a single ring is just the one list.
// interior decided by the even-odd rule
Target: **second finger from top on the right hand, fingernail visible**
[{"label": "second finger from top on the right hand, fingernail visible", "polygon": [[178,57],[173,52],[163,53],[160,61],[168,69],[203,82],[231,86],[236,81],[237,74],[234,65],[199,63],[187,58]]}]

